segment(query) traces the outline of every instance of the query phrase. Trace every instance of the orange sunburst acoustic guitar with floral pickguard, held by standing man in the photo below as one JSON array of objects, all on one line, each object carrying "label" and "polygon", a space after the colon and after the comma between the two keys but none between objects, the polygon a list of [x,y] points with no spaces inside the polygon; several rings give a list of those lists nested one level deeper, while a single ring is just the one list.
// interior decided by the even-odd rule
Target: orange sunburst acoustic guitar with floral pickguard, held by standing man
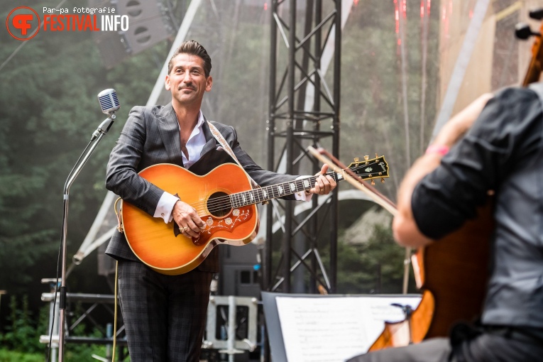
[{"label": "orange sunburst acoustic guitar with floral pickguard, held by standing man", "polygon": [[[384,156],[351,163],[349,170],[363,180],[389,177]],[[204,176],[171,164],[150,166],[139,175],[190,204],[205,222],[198,238],[188,238],[175,222],[165,224],[128,202],[121,204],[124,234],[133,253],[167,275],[196,268],[221,243],[242,246],[251,242],[258,232],[256,204],[309,190],[317,179],[313,176],[253,189],[243,168],[233,163],[220,165]],[[327,175],[336,182],[345,178],[342,172]]]}]

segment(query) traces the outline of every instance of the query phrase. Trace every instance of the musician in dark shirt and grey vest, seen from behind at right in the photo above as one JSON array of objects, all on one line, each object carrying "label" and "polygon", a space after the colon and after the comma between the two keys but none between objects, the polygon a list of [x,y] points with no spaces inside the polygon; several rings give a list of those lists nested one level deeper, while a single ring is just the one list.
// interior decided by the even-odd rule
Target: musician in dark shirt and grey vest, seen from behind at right
[{"label": "musician in dark shirt and grey vest, seen from behind at right", "polygon": [[459,229],[489,190],[495,231],[481,323],[454,345],[429,339],[349,362],[543,361],[543,107],[533,89],[484,94],[447,122],[400,186],[397,242],[427,246]]}]

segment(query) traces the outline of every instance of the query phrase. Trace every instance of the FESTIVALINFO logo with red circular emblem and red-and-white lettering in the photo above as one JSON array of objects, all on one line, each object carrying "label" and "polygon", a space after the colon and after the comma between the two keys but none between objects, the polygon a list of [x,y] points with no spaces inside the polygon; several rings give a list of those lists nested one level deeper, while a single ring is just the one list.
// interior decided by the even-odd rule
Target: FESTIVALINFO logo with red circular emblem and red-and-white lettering
[{"label": "FESTIVALINFO logo with red circular emblem and red-and-white lettering", "polygon": [[42,15],[28,6],[18,6],[6,18],[9,35],[17,40],[29,40],[39,31],[128,31],[128,15],[117,15],[116,9],[48,8]]}]

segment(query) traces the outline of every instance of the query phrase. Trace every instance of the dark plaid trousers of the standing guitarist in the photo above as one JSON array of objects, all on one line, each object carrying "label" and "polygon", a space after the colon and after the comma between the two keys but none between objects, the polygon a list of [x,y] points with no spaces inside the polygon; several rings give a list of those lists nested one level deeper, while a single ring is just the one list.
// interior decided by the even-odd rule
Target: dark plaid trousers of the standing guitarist
[{"label": "dark plaid trousers of the standing guitarist", "polygon": [[119,260],[119,299],[132,362],[197,362],[213,273],[156,273]]}]

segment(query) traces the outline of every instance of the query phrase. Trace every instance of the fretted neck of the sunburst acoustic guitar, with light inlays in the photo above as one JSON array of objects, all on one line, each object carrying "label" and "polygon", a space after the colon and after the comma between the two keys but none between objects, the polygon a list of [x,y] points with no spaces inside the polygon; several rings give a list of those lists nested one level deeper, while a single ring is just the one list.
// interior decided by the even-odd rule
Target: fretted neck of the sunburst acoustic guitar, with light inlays
[{"label": "fretted neck of the sunburst acoustic guitar, with light inlays", "polygon": [[[336,182],[343,181],[344,177],[337,172],[328,172],[326,175],[331,176]],[[237,192],[230,195],[230,201],[233,207],[243,207],[260,202],[266,202],[270,199],[278,199],[296,192],[310,190],[314,187],[317,176],[302,178],[300,180],[292,180],[276,185],[258,187],[253,190]]]}]

